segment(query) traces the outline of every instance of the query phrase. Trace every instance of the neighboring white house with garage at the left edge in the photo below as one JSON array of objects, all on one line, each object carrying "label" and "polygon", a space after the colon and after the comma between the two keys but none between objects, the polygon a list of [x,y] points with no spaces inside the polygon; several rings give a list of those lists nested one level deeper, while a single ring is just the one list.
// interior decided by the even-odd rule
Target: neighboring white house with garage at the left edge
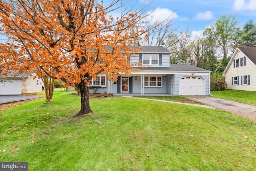
[{"label": "neighboring white house with garage at the left edge", "polygon": [[42,91],[44,83],[35,73],[19,74],[14,77],[13,74],[8,74],[8,77],[0,76],[0,95],[20,95],[25,93],[35,93]]}]

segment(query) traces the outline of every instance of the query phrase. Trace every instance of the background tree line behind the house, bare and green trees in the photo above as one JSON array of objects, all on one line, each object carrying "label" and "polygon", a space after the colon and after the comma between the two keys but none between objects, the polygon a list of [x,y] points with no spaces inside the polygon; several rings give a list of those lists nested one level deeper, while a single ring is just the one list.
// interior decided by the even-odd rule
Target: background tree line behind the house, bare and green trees
[{"label": "background tree line behind the house, bare and green trees", "polygon": [[[200,36],[193,37],[187,30],[177,34],[177,28],[172,28],[172,21],[168,20],[165,27],[154,28],[151,39],[165,41],[165,48],[172,52],[171,64],[190,64],[212,71],[211,89],[225,89],[225,80],[222,74],[238,46],[256,45],[256,24],[248,20],[239,27],[236,15],[220,16],[214,24],[208,25]],[[150,30],[150,29],[148,29]],[[169,31],[166,31],[169,30]]]}]

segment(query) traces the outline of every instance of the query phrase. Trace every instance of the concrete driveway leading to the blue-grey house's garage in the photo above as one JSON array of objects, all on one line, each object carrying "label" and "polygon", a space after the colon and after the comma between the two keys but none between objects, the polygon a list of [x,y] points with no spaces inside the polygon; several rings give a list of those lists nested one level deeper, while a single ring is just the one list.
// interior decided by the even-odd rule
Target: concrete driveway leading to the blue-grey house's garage
[{"label": "concrete driveway leading to the blue-grey house's garage", "polygon": [[228,112],[240,115],[242,117],[247,117],[247,118],[256,120],[256,106],[253,106],[253,105],[247,105],[247,104],[238,103],[235,101],[219,99],[212,96],[184,95],[183,97],[193,101],[199,101],[204,105],[214,107],[215,109],[228,111]]}]

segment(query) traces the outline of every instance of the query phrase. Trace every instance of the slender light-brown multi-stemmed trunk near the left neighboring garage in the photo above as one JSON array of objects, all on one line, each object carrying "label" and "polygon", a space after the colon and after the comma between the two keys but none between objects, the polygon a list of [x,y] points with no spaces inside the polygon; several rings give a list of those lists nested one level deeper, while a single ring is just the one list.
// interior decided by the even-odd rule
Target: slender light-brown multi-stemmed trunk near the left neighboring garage
[{"label": "slender light-brown multi-stemmed trunk near the left neighboring garage", "polygon": [[45,75],[42,77],[42,81],[44,82],[46,103],[52,103],[54,79]]}]

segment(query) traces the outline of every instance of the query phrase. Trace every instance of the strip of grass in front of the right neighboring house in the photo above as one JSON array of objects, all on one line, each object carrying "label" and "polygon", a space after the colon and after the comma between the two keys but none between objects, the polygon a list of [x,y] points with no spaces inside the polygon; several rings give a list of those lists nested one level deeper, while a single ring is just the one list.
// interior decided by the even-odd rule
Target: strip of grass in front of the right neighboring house
[{"label": "strip of grass in front of the right neighboring house", "polygon": [[256,91],[224,90],[211,91],[214,97],[256,106]]}]

